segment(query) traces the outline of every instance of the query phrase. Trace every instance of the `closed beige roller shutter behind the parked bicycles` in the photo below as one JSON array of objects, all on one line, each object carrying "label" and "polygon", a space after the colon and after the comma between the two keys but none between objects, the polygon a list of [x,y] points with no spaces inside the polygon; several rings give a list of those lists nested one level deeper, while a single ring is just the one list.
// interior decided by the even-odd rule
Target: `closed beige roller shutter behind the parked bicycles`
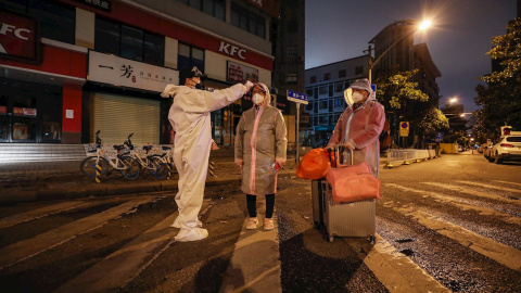
[{"label": "closed beige roller shutter behind the parked bicycles", "polygon": [[103,144],[123,144],[134,133],[132,143],[160,143],[160,101],[96,92],[91,95],[91,141],[101,130]]}]

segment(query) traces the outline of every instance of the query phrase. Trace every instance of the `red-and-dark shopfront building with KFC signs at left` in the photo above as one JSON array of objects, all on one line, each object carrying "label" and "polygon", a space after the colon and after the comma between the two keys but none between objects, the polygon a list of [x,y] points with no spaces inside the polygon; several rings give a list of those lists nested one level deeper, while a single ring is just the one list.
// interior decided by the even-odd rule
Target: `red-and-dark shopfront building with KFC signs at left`
[{"label": "red-and-dark shopfront building with KFC signs at left", "polygon": [[[179,71],[271,87],[276,0],[2,0],[0,143],[171,143]],[[241,102],[212,113],[232,144]]]}]

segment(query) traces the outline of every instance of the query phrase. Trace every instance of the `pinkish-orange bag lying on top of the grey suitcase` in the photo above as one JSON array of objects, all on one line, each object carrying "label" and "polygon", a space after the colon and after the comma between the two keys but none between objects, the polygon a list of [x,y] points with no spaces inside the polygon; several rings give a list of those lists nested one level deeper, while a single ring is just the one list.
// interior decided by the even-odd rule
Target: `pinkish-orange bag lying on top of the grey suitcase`
[{"label": "pinkish-orange bag lying on top of the grey suitcase", "polygon": [[351,162],[350,166],[336,163],[338,168],[331,167],[326,175],[334,203],[380,199],[380,180],[372,176],[369,164],[353,165],[353,151]]}]

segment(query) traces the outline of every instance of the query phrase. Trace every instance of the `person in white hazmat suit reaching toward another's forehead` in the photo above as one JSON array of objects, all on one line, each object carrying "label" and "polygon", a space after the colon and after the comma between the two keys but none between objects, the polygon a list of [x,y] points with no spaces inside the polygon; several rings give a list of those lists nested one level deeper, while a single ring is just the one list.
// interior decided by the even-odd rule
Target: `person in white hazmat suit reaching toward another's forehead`
[{"label": "person in white hazmat suit reaching toward another's forehead", "polygon": [[176,131],[174,140],[174,163],[179,173],[176,203],[179,216],[170,227],[180,228],[176,241],[198,241],[205,239],[208,231],[198,219],[203,203],[204,186],[208,169],[212,146],[212,111],[233,103],[253,87],[251,81],[237,84],[230,88],[203,90],[205,76],[193,67],[181,75],[185,86],[167,85],[161,97],[174,98],[168,120]]}]

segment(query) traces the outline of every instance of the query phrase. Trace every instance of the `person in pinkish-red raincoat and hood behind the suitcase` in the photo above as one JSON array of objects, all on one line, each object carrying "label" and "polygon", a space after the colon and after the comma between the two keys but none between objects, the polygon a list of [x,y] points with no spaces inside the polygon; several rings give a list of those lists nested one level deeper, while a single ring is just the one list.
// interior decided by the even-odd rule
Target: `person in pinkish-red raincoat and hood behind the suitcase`
[{"label": "person in pinkish-red raincoat and hood behind the suitcase", "polygon": [[380,162],[378,138],[385,123],[383,106],[377,101],[367,78],[355,80],[344,91],[344,98],[347,107],[340,115],[327,148],[343,144],[350,151],[354,151],[355,165],[367,162],[371,174],[378,177]]}]

